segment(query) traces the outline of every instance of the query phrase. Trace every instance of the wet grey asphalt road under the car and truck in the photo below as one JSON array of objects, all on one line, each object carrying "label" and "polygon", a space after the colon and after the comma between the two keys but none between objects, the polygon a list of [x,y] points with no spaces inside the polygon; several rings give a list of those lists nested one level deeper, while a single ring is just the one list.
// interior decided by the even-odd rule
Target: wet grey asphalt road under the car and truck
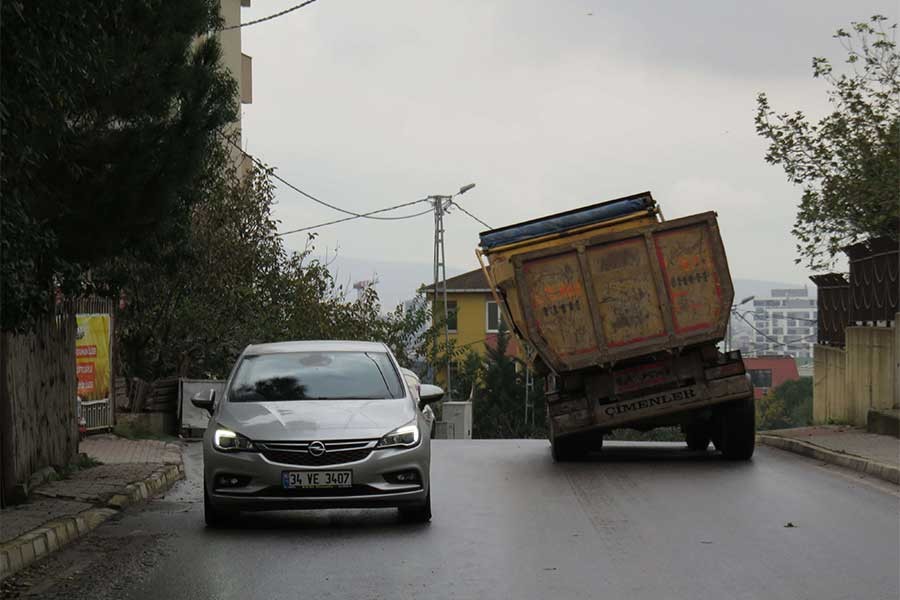
[{"label": "wet grey asphalt road under the car and truck", "polygon": [[555,465],[542,441],[434,444],[430,525],[392,510],[202,524],[190,479],[26,571],[4,597],[886,599],[900,493],[780,450],[728,463],[617,444]]}]

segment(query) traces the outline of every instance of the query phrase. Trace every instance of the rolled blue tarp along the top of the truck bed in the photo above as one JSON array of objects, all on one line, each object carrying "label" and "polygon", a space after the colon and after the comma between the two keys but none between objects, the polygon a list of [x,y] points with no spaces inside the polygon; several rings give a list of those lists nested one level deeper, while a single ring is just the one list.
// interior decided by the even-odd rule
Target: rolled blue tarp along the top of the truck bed
[{"label": "rolled blue tarp along the top of the truck bed", "polygon": [[634,212],[647,211],[655,206],[650,192],[585,206],[568,212],[541,217],[524,223],[492,229],[480,234],[481,248],[488,250],[551,233],[559,233],[584,225],[609,221]]}]

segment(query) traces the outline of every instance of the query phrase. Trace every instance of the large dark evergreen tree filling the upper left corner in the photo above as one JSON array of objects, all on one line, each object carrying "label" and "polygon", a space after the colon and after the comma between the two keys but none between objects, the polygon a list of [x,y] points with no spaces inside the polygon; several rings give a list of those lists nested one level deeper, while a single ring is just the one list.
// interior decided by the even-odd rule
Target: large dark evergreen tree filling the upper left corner
[{"label": "large dark evergreen tree filling the upper left corner", "polygon": [[[216,0],[2,3],[2,328],[178,239],[237,86]],[[114,287],[114,286],[110,286]]]}]

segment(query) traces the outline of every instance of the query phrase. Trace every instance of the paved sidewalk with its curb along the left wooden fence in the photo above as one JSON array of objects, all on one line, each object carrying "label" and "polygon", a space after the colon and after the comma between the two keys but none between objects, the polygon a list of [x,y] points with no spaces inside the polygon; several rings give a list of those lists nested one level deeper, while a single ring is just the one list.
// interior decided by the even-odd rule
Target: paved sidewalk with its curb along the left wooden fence
[{"label": "paved sidewalk with its curb along the left wooden fence", "polygon": [[184,474],[177,443],[102,435],[82,441],[79,451],[103,464],[48,481],[24,504],[0,511],[0,580],[169,489]]}]

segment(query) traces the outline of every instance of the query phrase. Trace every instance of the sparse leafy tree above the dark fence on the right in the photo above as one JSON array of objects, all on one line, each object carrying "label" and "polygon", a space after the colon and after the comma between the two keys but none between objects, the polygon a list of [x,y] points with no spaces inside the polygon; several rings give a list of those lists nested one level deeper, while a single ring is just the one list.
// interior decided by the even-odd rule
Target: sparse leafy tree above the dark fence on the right
[{"label": "sparse leafy tree above the dark fence on the right", "polygon": [[900,54],[897,24],[876,15],[834,35],[847,51],[848,72],[813,58],[813,77],[829,85],[832,112],[811,122],[802,112],[776,113],[757,97],[756,131],[780,165],[803,186],[793,227],[800,258],[814,270],[831,265],[845,246],[867,238],[898,238],[900,225]]}]

